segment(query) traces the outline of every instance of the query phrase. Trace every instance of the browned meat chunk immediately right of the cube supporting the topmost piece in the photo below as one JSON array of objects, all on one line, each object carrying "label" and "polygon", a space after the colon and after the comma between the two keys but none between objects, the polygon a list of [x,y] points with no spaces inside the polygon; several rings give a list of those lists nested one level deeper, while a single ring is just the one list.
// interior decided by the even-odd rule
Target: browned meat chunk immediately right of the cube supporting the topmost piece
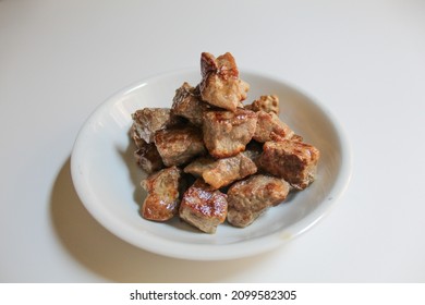
[{"label": "browned meat chunk immediately right of the cube supporting the topmost piece", "polygon": [[257,112],[257,126],[253,136],[257,142],[282,141],[294,135],[294,132],[275,112],[267,113],[260,110]]}]

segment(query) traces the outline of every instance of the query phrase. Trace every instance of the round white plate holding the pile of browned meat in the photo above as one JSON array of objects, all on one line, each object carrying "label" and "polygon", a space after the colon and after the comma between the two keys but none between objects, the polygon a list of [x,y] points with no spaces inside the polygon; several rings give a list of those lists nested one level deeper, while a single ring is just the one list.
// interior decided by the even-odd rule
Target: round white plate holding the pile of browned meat
[{"label": "round white plate holding the pile of browned meat", "polygon": [[145,107],[169,108],[183,82],[196,85],[201,80],[198,70],[180,71],[120,90],[82,127],[72,152],[72,179],[81,200],[97,221],[149,252],[218,260],[270,251],[320,220],[343,193],[351,174],[350,149],[340,126],[323,106],[277,78],[243,71],[241,78],[251,85],[246,103],[260,95],[278,95],[281,119],[320,150],[317,180],[311,186],[244,229],[224,223],[216,234],[206,234],[178,218],[166,223],[143,219],[138,210],[145,196],[139,186],[144,174],[133,158],[131,113]]}]

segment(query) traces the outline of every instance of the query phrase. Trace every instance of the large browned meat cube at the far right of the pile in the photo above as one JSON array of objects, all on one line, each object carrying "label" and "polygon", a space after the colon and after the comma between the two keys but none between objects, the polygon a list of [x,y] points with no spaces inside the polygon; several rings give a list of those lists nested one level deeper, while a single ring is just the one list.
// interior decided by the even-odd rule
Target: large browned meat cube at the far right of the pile
[{"label": "large browned meat cube at the far right of the pile", "polygon": [[296,141],[266,142],[259,157],[260,167],[283,178],[298,190],[304,190],[315,180],[319,150]]}]

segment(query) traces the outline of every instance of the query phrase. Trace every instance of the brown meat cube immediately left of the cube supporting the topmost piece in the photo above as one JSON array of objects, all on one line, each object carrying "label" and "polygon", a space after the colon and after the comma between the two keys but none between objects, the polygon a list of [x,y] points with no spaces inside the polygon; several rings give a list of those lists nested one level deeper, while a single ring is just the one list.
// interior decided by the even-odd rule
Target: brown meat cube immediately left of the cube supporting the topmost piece
[{"label": "brown meat cube immediately left of the cube supporting the topmost piece", "polygon": [[156,132],[155,145],[167,167],[181,166],[206,152],[202,130],[179,126]]}]

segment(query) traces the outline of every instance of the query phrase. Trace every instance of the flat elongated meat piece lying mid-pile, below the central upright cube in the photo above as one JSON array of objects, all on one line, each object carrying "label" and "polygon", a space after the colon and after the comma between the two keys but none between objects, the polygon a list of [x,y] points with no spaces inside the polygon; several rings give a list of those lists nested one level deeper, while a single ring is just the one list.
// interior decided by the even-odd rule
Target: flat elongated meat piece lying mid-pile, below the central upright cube
[{"label": "flat elongated meat piece lying mid-pile, below the central upright cube", "polygon": [[202,176],[214,188],[229,185],[233,181],[241,180],[256,171],[255,163],[242,154],[218,160],[201,157],[184,168],[184,172]]}]

